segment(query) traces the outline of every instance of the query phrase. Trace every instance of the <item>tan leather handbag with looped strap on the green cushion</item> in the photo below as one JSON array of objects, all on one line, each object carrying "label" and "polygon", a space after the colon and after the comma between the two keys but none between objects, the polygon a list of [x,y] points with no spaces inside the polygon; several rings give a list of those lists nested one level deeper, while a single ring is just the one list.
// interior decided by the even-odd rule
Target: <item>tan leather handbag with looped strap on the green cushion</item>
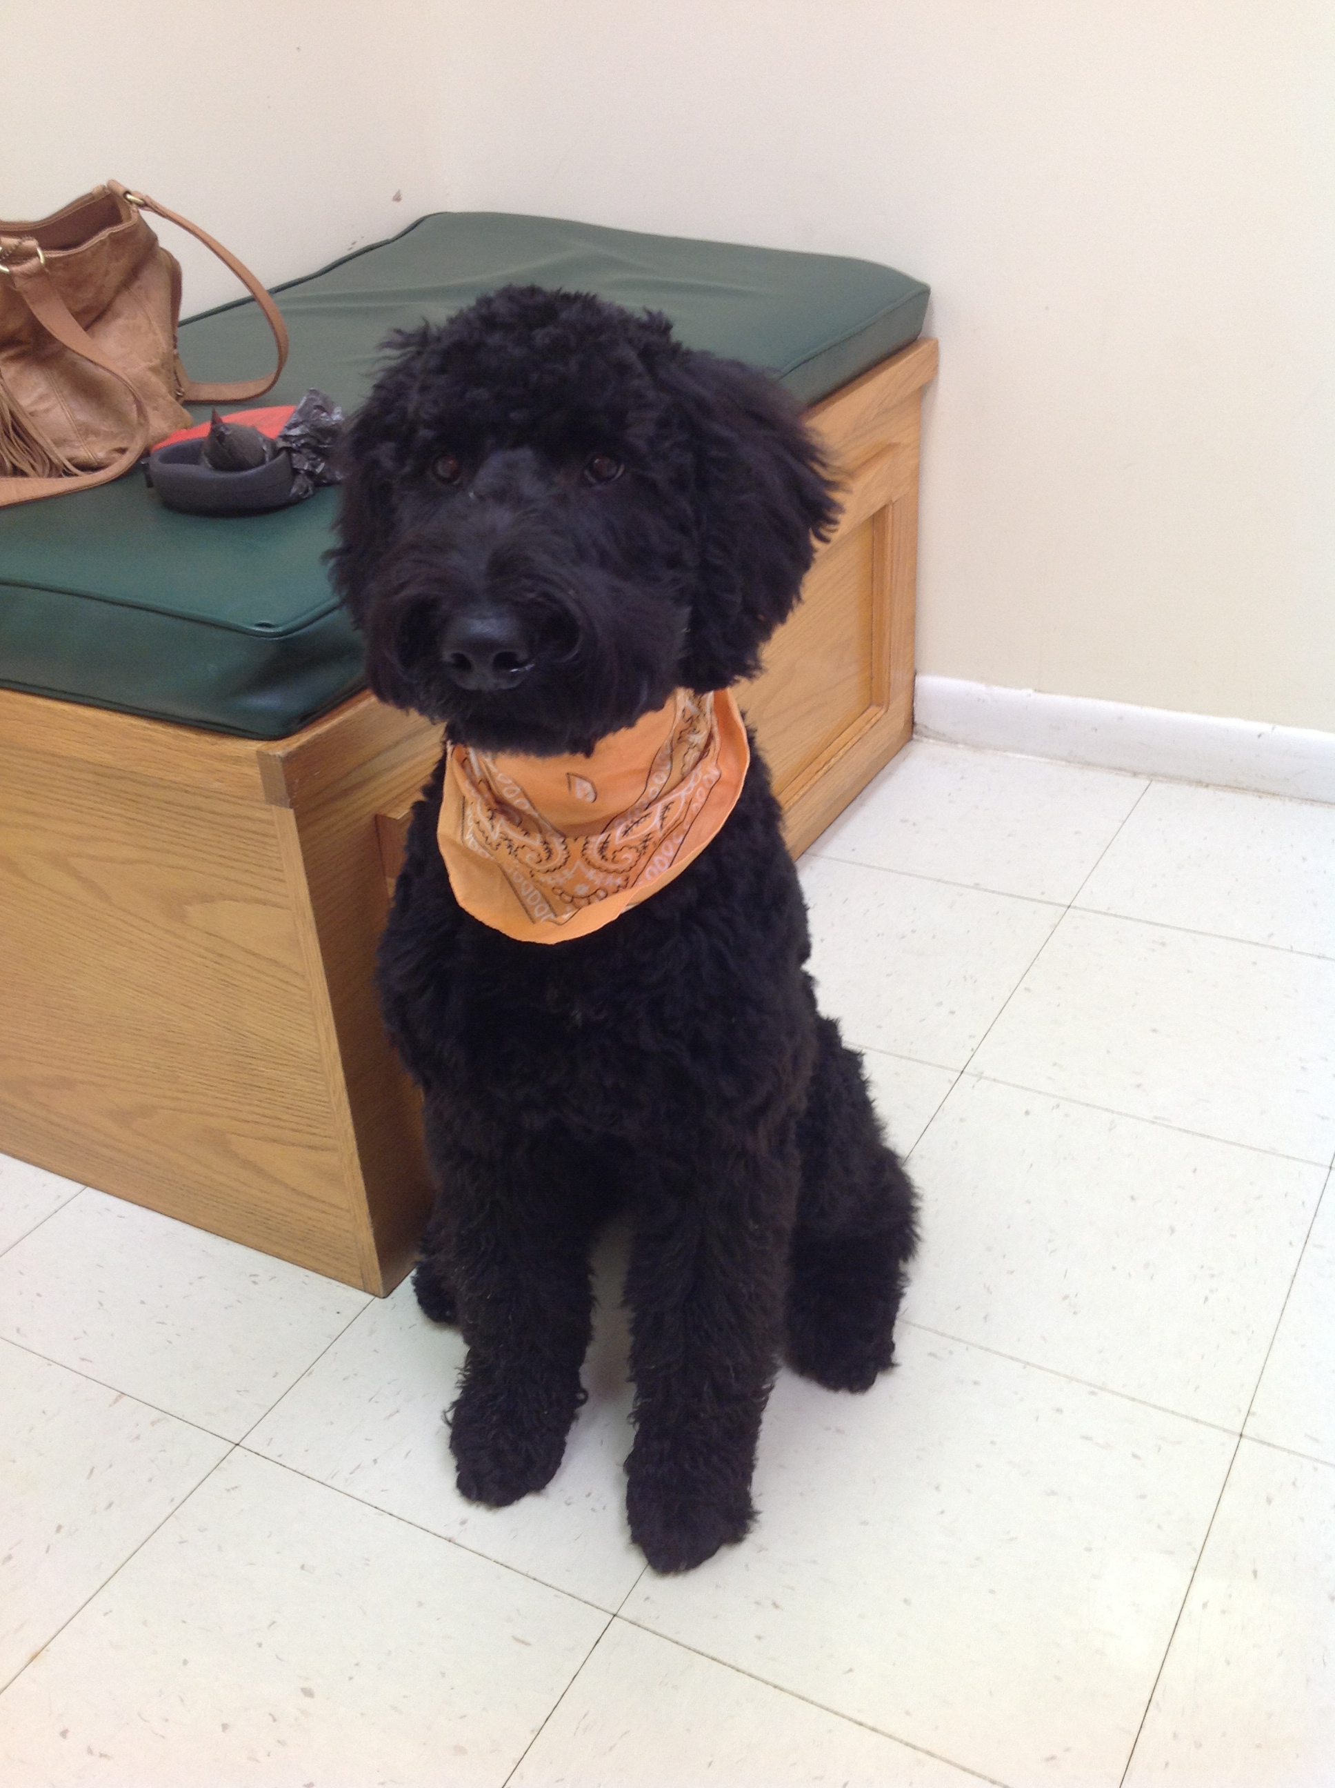
[{"label": "tan leather handbag with looped strap on the green cushion", "polygon": [[[268,377],[197,384],[177,356],[181,266],[143,213],[170,218],[243,281],[268,318]],[[0,222],[0,508],[105,485],[188,427],[184,402],[259,397],[288,331],[256,275],[195,224],[107,181],[39,224]]]}]

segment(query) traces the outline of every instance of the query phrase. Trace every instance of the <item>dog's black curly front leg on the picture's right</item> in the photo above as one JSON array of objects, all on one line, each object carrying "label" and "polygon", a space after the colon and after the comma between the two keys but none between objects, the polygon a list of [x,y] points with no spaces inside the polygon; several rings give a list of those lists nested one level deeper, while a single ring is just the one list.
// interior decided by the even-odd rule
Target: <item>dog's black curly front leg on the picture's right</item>
[{"label": "dog's black curly front leg on the picture's right", "polygon": [[797,1178],[792,1137],[715,1137],[704,1157],[659,1164],[640,1205],[626,1280],[636,1386],[626,1507],[654,1570],[692,1570],[751,1525]]}]

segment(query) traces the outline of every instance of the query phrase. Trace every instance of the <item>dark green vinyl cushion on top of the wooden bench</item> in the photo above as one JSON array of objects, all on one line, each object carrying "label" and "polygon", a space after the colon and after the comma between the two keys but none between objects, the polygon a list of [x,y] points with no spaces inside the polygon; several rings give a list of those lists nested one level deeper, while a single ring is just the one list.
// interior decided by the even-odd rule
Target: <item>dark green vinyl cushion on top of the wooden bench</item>
[{"label": "dark green vinyl cushion on top of the wooden bench", "polygon": [[[920,281],[870,261],[441,211],[275,288],[291,354],[256,402],[318,386],[352,409],[391,329],[504,284],[665,311],[690,347],[765,367],[804,404],[913,342],[928,306]],[[195,379],[254,375],[270,354],[250,299],[181,325]],[[250,738],[297,731],[363,683],[322,565],[336,502],[181,515],[130,472],[0,511],[0,685]]]}]

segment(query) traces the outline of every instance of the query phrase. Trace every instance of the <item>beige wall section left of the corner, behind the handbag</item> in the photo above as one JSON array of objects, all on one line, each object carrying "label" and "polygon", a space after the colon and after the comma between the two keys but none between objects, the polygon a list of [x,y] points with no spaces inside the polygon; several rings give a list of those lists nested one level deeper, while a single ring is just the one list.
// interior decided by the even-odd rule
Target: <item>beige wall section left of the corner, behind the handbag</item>
[{"label": "beige wall section left of the corner, behind the handbag", "polygon": [[[309,274],[447,202],[440,38],[434,0],[0,0],[0,216],[114,177],[266,284]],[[239,295],[154,227],[186,315]]]}]

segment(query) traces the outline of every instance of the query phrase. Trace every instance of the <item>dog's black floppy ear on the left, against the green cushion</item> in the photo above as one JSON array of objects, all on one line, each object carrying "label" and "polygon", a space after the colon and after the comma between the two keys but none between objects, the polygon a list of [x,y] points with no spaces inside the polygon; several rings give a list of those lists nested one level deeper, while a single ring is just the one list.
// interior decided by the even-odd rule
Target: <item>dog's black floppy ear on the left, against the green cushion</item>
[{"label": "dog's black floppy ear on the left, against the green cushion", "polygon": [[399,329],[384,343],[395,356],[352,417],[338,447],[338,545],[325,554],[329,579],[354,622],[365,631],[374,572],[382,561],[393,526],[393,481],[402,449],[413,438],[416,365],[432,331]]}]

